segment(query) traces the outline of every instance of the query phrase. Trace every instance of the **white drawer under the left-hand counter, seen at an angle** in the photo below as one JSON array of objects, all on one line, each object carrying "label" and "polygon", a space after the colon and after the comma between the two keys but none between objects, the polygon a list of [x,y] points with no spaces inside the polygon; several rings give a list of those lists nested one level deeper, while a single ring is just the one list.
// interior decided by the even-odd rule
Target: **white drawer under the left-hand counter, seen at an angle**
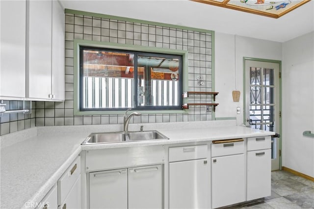
[{"label": "white drawer under the left-hand counter, seen at an angle", "polygon": [[72,186],[80,175],[80,156],[69,166],[58,180],[58,205],[61,205],[67,197]]}]

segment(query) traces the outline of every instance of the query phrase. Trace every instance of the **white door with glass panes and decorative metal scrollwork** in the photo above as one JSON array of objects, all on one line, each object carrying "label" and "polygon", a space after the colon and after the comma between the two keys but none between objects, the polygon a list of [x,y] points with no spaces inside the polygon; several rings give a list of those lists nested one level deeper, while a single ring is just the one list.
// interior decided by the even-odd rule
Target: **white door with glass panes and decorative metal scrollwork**
[{"label": "white door with glass panes and decorative metal scrollwork", "polygon": [[[244,124],[280,134],[280,62],[245,59]],[[280,140],[272,138],[271,169],[280,168]]]}]

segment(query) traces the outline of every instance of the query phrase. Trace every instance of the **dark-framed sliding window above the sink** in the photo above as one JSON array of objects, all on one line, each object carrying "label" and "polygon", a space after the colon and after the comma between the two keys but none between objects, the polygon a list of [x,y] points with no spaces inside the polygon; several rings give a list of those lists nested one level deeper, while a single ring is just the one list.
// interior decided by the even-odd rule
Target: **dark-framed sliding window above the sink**
[{"label": "dark-framed sliding window above the sink", "polygon": [[182,56],[79,46],[80,111],[182,109]]}]

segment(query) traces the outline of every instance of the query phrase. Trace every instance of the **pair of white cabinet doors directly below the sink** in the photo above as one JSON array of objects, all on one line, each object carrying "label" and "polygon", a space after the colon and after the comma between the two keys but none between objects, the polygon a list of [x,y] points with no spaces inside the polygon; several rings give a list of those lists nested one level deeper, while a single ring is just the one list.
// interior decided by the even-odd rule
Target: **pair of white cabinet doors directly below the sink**
[{"label": "pair of white cabinet doors directly below the sink", "polygon": [[90,209],[161,209],[162,165],[89,173]]}]

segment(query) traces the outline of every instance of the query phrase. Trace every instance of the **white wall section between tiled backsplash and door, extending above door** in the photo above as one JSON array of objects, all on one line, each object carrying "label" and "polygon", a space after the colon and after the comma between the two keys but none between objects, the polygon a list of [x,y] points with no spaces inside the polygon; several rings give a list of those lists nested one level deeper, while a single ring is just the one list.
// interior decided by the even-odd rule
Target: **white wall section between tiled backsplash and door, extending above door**
[{"label": "white wall section between tiled backsplash and door, extending above door", "polygon": [[[236,117],[238,125],[243,124],[243,57],[282,60],[282,43],[215,33],[216,118]],[[232,99],[234,90],[241,92],[239,102]],[[241,114],[236,114],[236,107]]]}]

